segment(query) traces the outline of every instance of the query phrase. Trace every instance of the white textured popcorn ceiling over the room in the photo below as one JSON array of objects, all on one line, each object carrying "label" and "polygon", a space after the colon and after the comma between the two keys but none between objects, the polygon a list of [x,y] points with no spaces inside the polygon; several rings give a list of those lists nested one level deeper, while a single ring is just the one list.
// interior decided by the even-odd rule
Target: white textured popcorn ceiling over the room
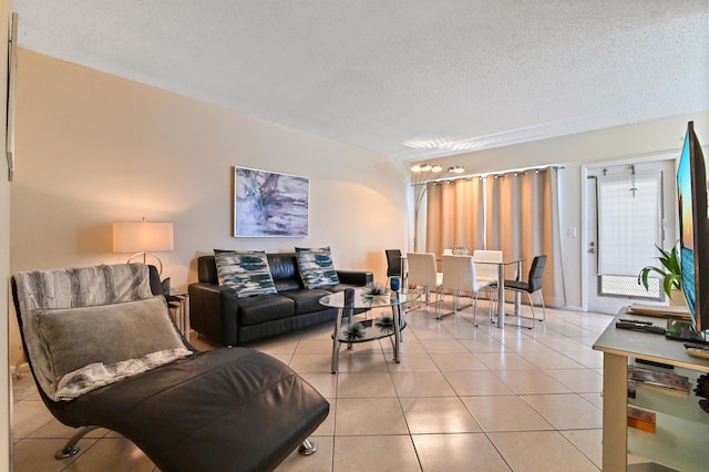
[{"label": "white textured popcorn ceiling over the room", "polygon": [[707,0],[13,3],[22,48],[405,161],[709,110]]}]

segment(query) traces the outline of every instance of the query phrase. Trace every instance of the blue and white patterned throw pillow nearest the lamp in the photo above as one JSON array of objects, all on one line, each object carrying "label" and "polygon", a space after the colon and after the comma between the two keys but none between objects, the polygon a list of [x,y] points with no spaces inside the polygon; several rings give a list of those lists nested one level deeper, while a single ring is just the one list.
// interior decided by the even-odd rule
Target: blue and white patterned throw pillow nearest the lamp
[{"label": "blue and white patterned throw pillow nearest the lamp", "polygon": [[214,260],[219,285],[233,287],[237,298],[277,294],[265,253],[215,249]]}]

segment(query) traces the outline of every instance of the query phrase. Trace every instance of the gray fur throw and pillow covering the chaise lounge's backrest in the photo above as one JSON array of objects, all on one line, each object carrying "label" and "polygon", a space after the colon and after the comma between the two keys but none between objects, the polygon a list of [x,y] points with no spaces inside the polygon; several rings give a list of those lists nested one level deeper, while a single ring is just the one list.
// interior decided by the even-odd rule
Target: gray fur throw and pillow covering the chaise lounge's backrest
[{"label": "gray fur throw and pillow covering the chaise lounge's backrest", "polygon": [[[191,352],[169,319],[164,297],[153,298],[147,266],[40,270],[14,279],[34,373],[55,401]],[[162,355],[151,356],[155,352]],[[58,392],[65,376],[86,366],[93,367],[72,378],[71,394]]]}]

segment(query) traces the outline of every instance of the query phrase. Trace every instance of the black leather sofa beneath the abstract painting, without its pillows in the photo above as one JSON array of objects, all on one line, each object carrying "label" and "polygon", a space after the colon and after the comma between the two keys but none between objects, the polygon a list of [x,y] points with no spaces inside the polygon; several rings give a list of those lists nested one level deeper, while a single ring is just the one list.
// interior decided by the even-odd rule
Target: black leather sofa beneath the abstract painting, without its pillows
[{"label": "black leather sofa beneath the abstract painting, without its pillows", "polygon": [[214,256],[201,256],[198,281],[188,287],[192,329],[224,346],[302,329],[335,319],[337,309],[322,307],[320,298],[373,280],[370,271],[338,270],[340,284],[306,289],[295,253],[273,253],[267,257],[278,294],[237,298],[233,288],[219,286]]}]

